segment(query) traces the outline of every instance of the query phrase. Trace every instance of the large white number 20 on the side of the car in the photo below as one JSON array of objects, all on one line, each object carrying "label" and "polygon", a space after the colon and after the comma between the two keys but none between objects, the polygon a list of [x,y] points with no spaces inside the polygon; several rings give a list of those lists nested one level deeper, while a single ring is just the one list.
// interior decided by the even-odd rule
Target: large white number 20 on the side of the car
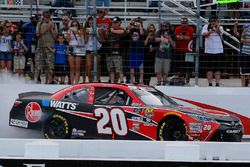
[{"label": "large white number 20 on the side of the car", "polygon": [[[97,132],[99,134],[115,134],[125,136],[128,133],[128,125],[123,110],[113,108],[110,112],[105,108],[97,108],[94,111],[95,117],[100,118],[97,121]],[[109,126],[109,123],[111,125]]]}]

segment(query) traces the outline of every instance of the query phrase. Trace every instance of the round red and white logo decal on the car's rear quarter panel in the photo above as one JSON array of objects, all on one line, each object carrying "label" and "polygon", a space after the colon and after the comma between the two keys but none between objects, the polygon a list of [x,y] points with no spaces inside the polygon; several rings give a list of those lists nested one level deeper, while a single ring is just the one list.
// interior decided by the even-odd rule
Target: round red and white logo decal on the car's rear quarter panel
[{"label": "round red and white logo decal on the car's rear quarter panel", "polygon": [[36,102],[30,102],[25,107],[25,117],[29,122],[36,123],[40,120],[42,115],[41,106]]}]

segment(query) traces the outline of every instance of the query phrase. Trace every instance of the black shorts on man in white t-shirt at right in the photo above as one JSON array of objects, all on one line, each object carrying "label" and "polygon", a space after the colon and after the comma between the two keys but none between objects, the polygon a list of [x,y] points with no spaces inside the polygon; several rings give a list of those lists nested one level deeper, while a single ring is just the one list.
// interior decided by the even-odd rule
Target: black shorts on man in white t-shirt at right
[{"label": "black shorts on man in white t-shirt at right", "polygon": [[204,62],[202,68],[205,68],[206,71],[221,73],[224,71],[225,67],[225,56],[223,54],[205,54]]}]

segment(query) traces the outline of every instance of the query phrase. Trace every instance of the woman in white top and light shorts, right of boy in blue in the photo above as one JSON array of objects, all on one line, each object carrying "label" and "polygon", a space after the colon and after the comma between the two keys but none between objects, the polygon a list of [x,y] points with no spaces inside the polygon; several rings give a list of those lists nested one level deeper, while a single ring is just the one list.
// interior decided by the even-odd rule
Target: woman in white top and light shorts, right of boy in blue
[{"label": "woman in white top and light shorts, right of boy in blue", "polygon": [[[86,54],[85,49],[85,32],[81,29],[78,21],[73,20],[68,30],[67,41],[69,42],[69,68],[70,68],[70,83],[78,84],[80,80],[80,69],[82,57]],[[83,78],[83,82],[85,78]]]}]

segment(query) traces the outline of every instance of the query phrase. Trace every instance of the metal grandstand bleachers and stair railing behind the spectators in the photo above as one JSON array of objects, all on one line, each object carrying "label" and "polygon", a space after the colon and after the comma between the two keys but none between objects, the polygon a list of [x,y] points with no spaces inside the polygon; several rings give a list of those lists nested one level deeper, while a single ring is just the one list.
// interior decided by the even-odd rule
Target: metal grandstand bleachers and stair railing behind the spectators
[{"label": "metal grandstand bleachers and stair railing behind the spectators", "polygon": [[[52,7],[49,0],[19,0],[12,4],[1,3],[0,21],[9,19],[12,22],[24,22],[29,21],[32,14],[41,14],[42,11],[48,9],[55,9],[57,15],[54,15],[55,21],[60,20],[60,12],[64,10],[75,9],[75,19],[80,22],[84,22],[88,15],[94,14],[95,4],[92,0],[75,0],[74,8],[69,7]],[[224,26],[224,44],[225,53],[227,57],[228,69],[224,73],[224,78],[239,78],[239,66],[238,66],[238,52],[239,41],[232,34],[232,27],[234,23],[234,17],[238,17],[239,25],[244,25],[249,22],[249,16],[247,15],[248,9],[244,1],[239,3],[240,5],[234,6],[230,4],[217,5],[215,12],[217,13],[221,24]],[[97,7],[99,8],[99,7]],[[195,0],[159,0],[158,3],[153,0],[112,0],[112,4],[109,8],[108,17],[113,18],[119,16],[123,19],[123,25],[127,26],[131,19],[141,17],[144,21],[144,28],[148,23],[153,23],[158,27],[159,23],[163,20],[170,21],[173,25],[180,23],[180,18],[186,16],[189,19],[189,24],[196,28],[201,28],[208,21],[210,12],[213,9],[208,5],[207,8],[202,8],[201,12],[205,13],[200,17],[201,25],[197,25],[197,8],[195,6]],[[58,19],[59,18],[59,19]],[[201,40],[200,40],[201,41]],[[200,42],[200,49],[202,50],[202,41]],[[202,69],[201,69],[202,70]],[[204,77],[201,74],[199,77]]]}]

